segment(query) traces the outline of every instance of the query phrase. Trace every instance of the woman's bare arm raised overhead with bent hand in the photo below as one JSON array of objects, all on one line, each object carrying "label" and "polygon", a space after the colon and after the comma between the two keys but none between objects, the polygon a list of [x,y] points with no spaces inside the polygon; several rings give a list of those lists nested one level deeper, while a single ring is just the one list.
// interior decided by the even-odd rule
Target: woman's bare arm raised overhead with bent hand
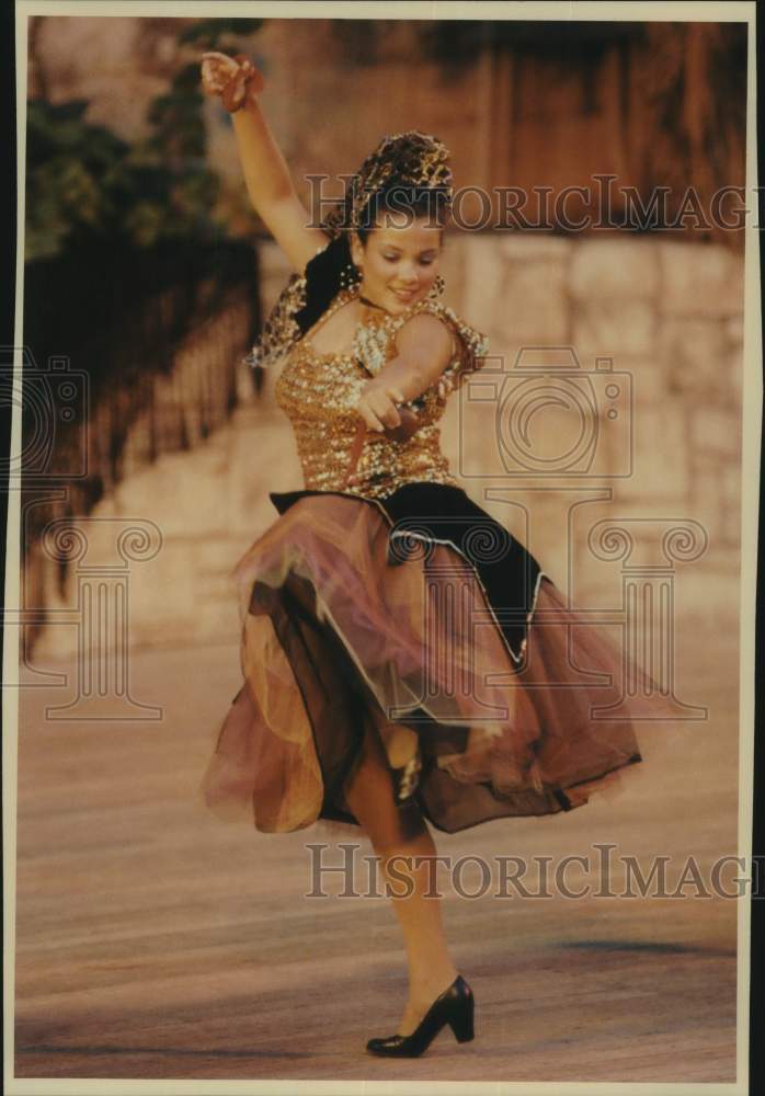
[{"label": "woman's bare arm raised overhead with bent hand", "polygon": [[[204,91],[222,96],[238,71],[233,58],[214,52],[203,54]],[[255,87],[262,87],[260,76],[258,81],[247,84],[243,104],[231,114],[244,182],[255,210],[293,269],[301,274],[328,236],[320,228],[309,227],[309,213],[297,195],[289,169],[260,109]]]}]

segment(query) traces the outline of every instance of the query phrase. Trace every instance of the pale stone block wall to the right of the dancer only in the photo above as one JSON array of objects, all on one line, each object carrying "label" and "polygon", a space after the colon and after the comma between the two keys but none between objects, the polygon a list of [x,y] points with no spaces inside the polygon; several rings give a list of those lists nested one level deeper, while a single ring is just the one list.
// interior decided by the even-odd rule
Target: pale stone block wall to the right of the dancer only
[{"label": "pale stone block wall to the right of the dancer only", "polygon": [[[675,574],[676,612],[686,620],[734,621],[741,259],[715,244],[659,237],[477,237],[460,240],[454,251],[465,316],[487,331],[511,376],[518,366],[521,376],[526,374],[512,390],[525,392],[530,406],[540,395],[548,404],[550,398],[566,402],[569,396],[557,416],[552,410],[540,412],[536,423],[532,418],[529,438],[521,436],[515,446],[522,457],[528,452],[539,458],[526,464],[535,475],[518,476],[513,465],[504,482],[502,476],[472,479],[477,501],[496,483],[509,489],[528,516],[521,511],[507,521],[514,506],[504,502],[487,500],[487,509],[519,536],[530,521],[532,550],[575,600],[614,604],[624,567],[648,563],[670,567]],[[559,350],[547,358],[563,366],[567,349],[572,350],[579,370],[548,370],[544,383],[534,380],[524,363],[544,362],[545,353],[533,347],[550,346]],[[589,392],[582,377],[587,373]],[[594,401],[592,414],[582,392]],[[522,430],[521,412],[514,413]],[[494,436],[487,441],[491,432],[475,429],[466,435],[465,422],[453,416],[446,447],[456,453],[460,444],[472,446],[477,467],[496,464]],[[597,432],[586,473],[581,461],[569,465],[562,458],[569,450],[575,456],[580,423],[585,433]],[[545,459],[551,471],[540,476]],[[524,487],[533,490],[524,492]],[[621,523],[635,540],[628,561],[605,562],[604,546],[593,544],[604,521]]]}]

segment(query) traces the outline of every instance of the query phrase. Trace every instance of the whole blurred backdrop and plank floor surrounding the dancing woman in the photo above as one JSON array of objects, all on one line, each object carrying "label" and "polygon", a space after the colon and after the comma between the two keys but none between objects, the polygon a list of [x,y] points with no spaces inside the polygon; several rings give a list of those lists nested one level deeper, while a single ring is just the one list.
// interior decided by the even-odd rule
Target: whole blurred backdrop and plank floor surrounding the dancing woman
[{"label": "whole blurred backdrop and plank floor surrounding the dancing woman", "polygon": [[[737,849],[744,230],[709,210],[745,182],[747,27],[27,30],[16,1075],[356,1078],[369,1017],[403,1000],[390,910],[318,911],[316,830],[224,832],[195,799],[241,684],[230,571],[276,517],[269,492],[302,486],[276,378],[256,392],[242,364],[288,271],[201,54],[261,66],[306,202],[309,175],[339,195],[413,128],[452,149],[458,189],[519,187],[532,219],[540,189],[555,209],[614,176],[607,209],[570,205],[607,230],[448,230],[445,300],[494,357],[453,397],[443,444],[466,491],[661,670],[673,719],[639,728],[646,764],[618,803],[438,848],[586,854],[597,836],[647,875],[658,850],[705,871]],[[642,227],[625,187],[643,205],[663,187],[666,222]],[[492,1051],[444,1053],[429,1076],[735,1080],[735,902],[557,898],[511,916],[449,898]],[[328,986],[336,1011],[302,1007]]]}]

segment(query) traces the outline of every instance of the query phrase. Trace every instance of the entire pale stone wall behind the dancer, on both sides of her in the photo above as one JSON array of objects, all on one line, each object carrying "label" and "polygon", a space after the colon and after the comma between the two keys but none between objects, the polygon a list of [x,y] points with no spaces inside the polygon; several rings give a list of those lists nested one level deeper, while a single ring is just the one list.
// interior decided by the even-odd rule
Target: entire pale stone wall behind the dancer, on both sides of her
[{"label": "entire pale stone wall behind the dancer, on both sides of her", "polygon": [[[272,244],[262,248],[261,263],[269,307],[287,271]],[[495,355],[453,396],[444,420],[444,450],[467,492],[578,603],[617,606],[627,571],[663,568],[681,630],[734,628],[742,263],[715,246],[659,238],[464,235],[447,240],[445,274],[446,299],[490,336]],[[612,377],[598,376],[595,358],[612,359]],[[539,362],[544,370],[534,368]],[[249,379],[242,366],[243,395]],[[130,567],[130,644],[228,642],[238,635],[230,570],[276,517],[267,492],[301,486],[274,381],[196,449],[137,470],[93,515],[107,520],[106,529],[145,518],[161,533],[153,558]],[[513,398],[505,401],[499,384]],[[630,384],[631,403],[624,399]],[[538,415],[525,426],[519,419],[521,433],[510,437],[515,464],[507,469],[496,409],[507,411],[501,430],[512,430],[524,401],[533,410],[538,399]],[[596,444],[578,449],[578,431],[596,431]],[[579,464],[561,459],[567,446]],[[546,460],[552,471],[540,475]],[[625,537],[632,543],[626,560],[618,550]],[[112,556],[104,544],[103,562]],[[96,546],[90,563],[98,558]],[[76,570],[58,608],[76,603]],[[75,642],[73,627],[50,626],[39,654],[72,651]]]}]

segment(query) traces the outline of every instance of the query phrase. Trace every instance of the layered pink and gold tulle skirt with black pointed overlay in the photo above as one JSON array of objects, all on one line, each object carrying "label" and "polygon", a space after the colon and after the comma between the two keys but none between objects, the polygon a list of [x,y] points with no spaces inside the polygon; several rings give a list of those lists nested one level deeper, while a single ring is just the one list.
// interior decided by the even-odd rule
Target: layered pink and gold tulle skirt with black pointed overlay
[{"label": "layered pink and gold tulle skirt with black pointed overlay", "polygon": [[624,684],[652,683],[465,492],[271,499],[232,572],[243,681],[202,783],[220,818],[357,825],[369,721],[415,743],[415,799],[448,833],[569,811],[642,760]]}]

